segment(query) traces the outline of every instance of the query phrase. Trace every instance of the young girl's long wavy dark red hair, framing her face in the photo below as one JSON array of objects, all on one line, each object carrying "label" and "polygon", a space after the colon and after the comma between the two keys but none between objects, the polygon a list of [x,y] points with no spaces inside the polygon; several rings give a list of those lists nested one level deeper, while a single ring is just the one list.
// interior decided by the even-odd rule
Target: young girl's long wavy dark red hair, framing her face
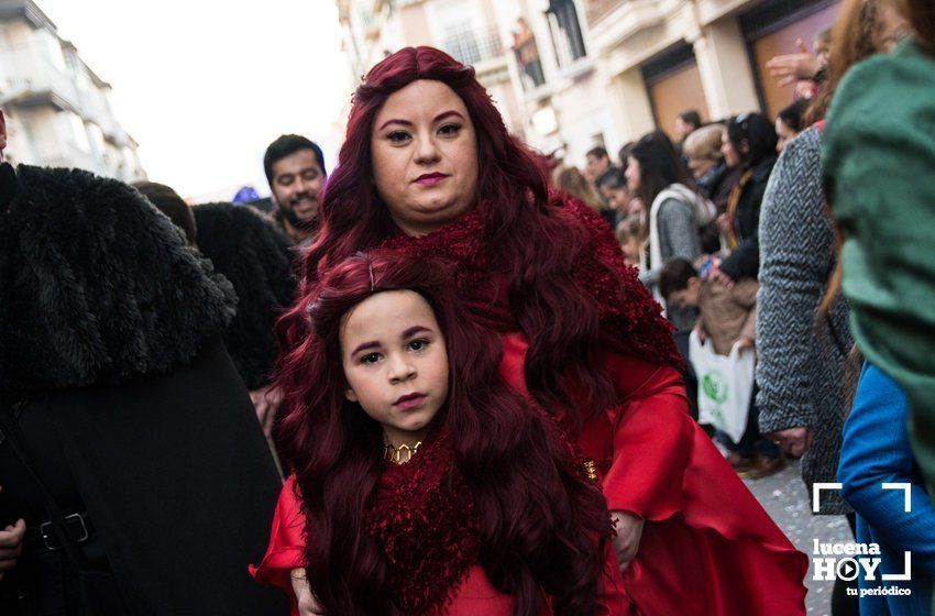
[{"label": "young girl's long wavy dark red hair, framing her face", "polygon": [[609,532],[603,496],[578,476],[554,422],[503,380],[499,338],[462,311],[450,276],[387,251],[349,257],[322,274],[297,308],[309,336],[280,367],[287,415],[279,443],[302,497],[316,597],[327,614],[398,614],[391,565],[363,524],[384,464],[382,428],[344,398],[340,350],[348,311],[398,289],[428,301],[446,338],[450,393],[432,429],[452,435],[452,460],[472,491],[491,581],[516,597],[518,615],[539,616],[546,594],[557,614],[596,614]]}]

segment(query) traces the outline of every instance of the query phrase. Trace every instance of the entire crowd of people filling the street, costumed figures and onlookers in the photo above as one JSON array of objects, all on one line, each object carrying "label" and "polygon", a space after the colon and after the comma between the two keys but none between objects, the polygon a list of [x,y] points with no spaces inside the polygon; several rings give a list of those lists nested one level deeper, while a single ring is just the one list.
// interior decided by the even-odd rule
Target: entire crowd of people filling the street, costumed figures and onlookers
[{"label": "entire crowd of people filling the street, costumed figures and onlookers", "polygon": [[405,48],[330,175],[270,144],[270,217],[0,165],[0,610],[805,614],[743,482],[801,458],[879,572],[913,554],[831,613],[927,614],[935,11],[847,0],[768,66],[776,118],[581,170]]}]

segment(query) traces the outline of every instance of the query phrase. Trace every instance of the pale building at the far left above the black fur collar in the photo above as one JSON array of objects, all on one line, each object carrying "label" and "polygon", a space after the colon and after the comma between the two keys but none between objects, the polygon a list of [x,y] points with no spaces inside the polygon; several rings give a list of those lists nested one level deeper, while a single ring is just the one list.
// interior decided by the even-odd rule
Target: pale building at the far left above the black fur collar
[{"label": "pale building at the far left above the black fur collar", "polygon": [[0,0],[0,109],[14,163],[145,179],[139,144],[116,120],[110,84],[32,0]]}]

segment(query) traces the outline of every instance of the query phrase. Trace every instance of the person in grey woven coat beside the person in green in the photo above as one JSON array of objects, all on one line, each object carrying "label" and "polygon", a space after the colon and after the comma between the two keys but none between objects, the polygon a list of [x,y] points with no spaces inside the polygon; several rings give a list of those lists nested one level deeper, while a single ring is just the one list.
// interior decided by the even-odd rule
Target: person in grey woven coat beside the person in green
[{"label": "person in grey woven coat beside the person in green", "polygon": [[[760,213],[757,382],[760,429],[792,455],[803,455],[809,486],[836,482],[844,387],[854,345],[848,307],[818,307],[835,270],[835,234],[822,189],[822,133],[791,141],[772,172]],[[821,514],[848,514],[838,493],[822,492]]]}]

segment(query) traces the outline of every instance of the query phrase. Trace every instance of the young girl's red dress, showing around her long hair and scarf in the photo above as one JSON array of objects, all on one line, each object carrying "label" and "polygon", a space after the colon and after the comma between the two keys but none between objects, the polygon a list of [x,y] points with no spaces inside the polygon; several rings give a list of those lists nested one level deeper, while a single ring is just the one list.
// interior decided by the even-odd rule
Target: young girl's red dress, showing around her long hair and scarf
[{"label": "young girl's red dress, showing around her long hair and scarf", "polygon": [[[305,516],[301,514],[301,502],[296,496],[295,475],[292,475],[279,494],[266,556],[258,566],[251,566],[250,572],[261,584],[278,586],[289,595],[293,616],[298,616],[299,612],[289,573],[293,569],[304,566],[304,527]],[[636,612],[632,610],[629,598],[623,588],[617,569],[617,557],[609,549],[609,546],[606,563],[607,574],[601,597],[602,604],[607,608],[605,614],[608,616],[635,615]],[[475,565],[453,590],[451,600],[446,604],[439,616],[513,616],[513,596],[494,587],[484,573],[484,569]],[[551,614],[551,612],[547,610],[543,616],[548,614]]]}]

